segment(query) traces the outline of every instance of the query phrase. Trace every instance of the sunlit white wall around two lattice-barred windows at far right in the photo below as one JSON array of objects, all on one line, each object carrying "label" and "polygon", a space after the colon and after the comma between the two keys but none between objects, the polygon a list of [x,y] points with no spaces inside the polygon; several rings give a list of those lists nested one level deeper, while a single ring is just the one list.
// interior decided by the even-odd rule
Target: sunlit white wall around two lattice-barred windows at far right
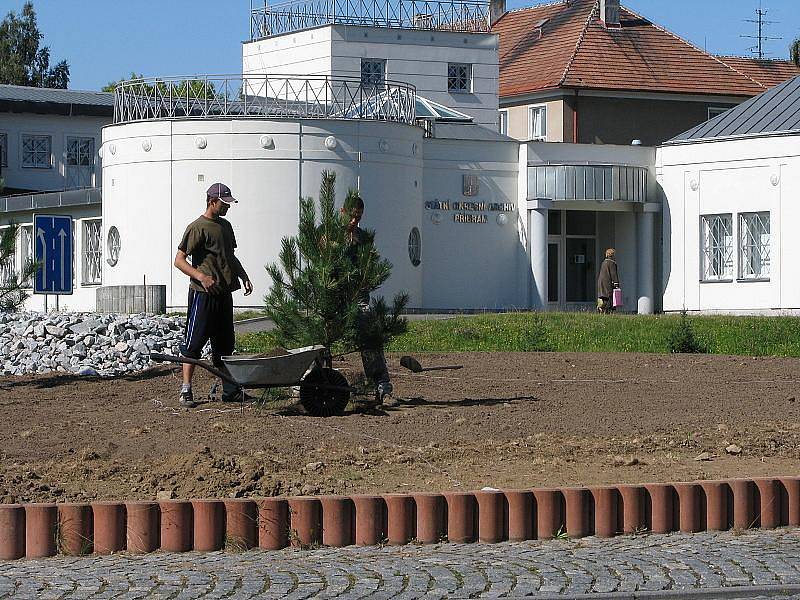
[{"label": "sunlit white wall around two lattice-barred windows at far right", "polygon": [[[664,310],[769,312],[800,309],[800,136],[699,142],[658,149],[665,195]],[[769,211],[769,281],[737,281],[738,214]],[[734,224],[734,280],[703,283],[700,215],[730,213]],[[785,264],[785,266],[784,266]]]}]

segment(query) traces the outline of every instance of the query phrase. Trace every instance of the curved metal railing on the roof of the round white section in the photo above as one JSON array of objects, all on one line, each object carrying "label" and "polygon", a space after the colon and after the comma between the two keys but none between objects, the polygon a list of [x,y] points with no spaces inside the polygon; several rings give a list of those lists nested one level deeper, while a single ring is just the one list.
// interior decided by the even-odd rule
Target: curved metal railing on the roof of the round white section
[{"label": "curved metal railing on the roof of the round white section", "polygon": [[161,119],[363,119],[413,124],[416,88],[295,75],[215,75],[125,81],[114,123]]}]

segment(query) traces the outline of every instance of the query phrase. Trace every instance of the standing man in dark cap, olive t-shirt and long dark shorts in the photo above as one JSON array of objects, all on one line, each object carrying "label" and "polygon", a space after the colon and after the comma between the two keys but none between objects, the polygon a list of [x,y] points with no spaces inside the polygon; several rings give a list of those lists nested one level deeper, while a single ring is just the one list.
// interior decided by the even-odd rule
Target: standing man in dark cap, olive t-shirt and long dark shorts
[{"label": "standing man in dark cap, olive t-shirt and long dark shorts", "polygon": [[[225,369],[223,356],[233,354],[233,298],[231,293],[244,285],[244,295],[253,292],[253,284],[234,255],[236,236],[231,224],[223,219],[232,204],[237,203],[231,189],[224,183],[215,183],[206,192],[206,211],[186,228],[175,267],[190,278],[189,303],[186,314],[186,335],[180,346],[181,354],[200,358],[208,340],[211,340],[212,361],[218,369]],[[192,257],[189,264],[187,257]],[[194,365],[183,365],[183,385],[180,403],[194,408],[197,403],[192,394]],[[241,400],[237,386],[223,382],[222,400]]]}]

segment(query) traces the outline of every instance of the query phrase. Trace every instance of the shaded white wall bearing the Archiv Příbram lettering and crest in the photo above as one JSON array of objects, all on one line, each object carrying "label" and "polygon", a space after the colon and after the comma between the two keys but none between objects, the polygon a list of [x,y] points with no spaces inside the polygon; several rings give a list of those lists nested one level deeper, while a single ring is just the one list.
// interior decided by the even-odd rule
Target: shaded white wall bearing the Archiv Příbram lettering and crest
[{"label": "shaded white wall bearing the Archiv P\u0159\u00edbram lettering and crest", "polygon": [[[424,210],[424,307],[527,308],[530,267],[525,233],[519,229],[524,224],[517,202],[518,145],[433,138],[426,139],[423,147],[424,200],[449,203],[449,210]],[[463,196],[464,174],[478,175],[477,196]],[[509,204],[513,208],[462,211],[453,209],[454,202]],[[458,214],[483,215],[486,222],[458,222]],[[504,215],[503,224],[498,222],[500,215]]]}]

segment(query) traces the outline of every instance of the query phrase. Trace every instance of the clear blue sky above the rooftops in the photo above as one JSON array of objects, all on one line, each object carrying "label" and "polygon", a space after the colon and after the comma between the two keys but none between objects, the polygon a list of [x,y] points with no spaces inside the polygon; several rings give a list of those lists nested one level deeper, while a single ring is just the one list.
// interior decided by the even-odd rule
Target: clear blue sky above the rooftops
[{"label": "clear blue sky above the rooftops", "polygon": [[[540,4],[509,0],[509,8]],[[0,0],[2,16],[24,0]],[[769,10],[767,43],[786,58],[800,36],[800,1],[761,0]],[[623,0],[694,44],[717,54],[747,54],[759,0]],[[131,71],[146,76],[239,73],[240,42],[249,36],[249,0],[34,0],[44,43],[54,60],[70,63],[73,89],[100,89]]]}]

